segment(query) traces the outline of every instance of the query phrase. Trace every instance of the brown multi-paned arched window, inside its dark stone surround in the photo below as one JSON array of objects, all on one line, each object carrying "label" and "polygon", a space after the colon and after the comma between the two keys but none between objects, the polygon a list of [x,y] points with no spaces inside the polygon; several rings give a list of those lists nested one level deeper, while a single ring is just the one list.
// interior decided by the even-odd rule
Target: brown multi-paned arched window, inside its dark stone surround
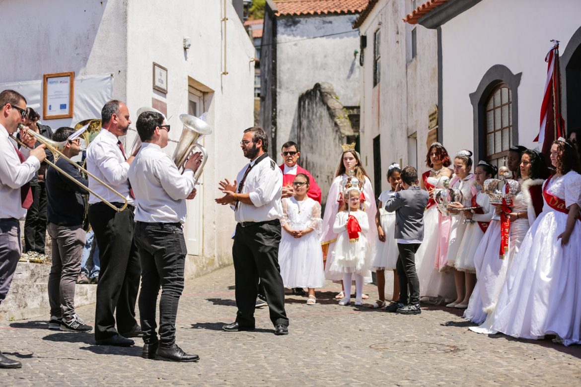
[{"label": "brown multi-paned arched window, inside its dark stone surround", "polygon": [[486,100],[486,161],[500,167],[512,146],[512,93],[508,85],[496,86]]}]

